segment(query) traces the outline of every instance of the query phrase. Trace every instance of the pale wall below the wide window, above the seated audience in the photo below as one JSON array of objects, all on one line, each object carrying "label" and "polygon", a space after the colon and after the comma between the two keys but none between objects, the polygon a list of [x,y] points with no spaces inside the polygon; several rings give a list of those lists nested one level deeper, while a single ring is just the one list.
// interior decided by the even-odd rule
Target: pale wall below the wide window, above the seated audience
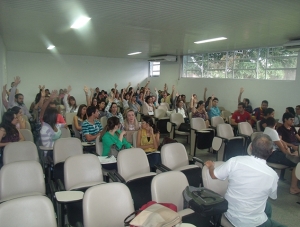
[{"label": "pale wall below the wide window, above the seated audience", "polygon": [[206,78],[180,78],[180,63],[162,62],[161,76],[149,78],[150,88],[163,89],[167,83],[169,91],[174,84],[179,93],[187,96],[188,101],[193,93],[199,100],[203,100],[203,91],[207,87],[207,96],[214,94],[219,99],[219,106],[230,111],[237,109],[239,90],[244,87],[242,98],[249,98],[252,107],[258,107],[261,101],[269,101],[269,107],[275,109],[275,117],[281,118],[288,106],[300,105],[298,90],[300,88],[300,55],[298,57],[297,76],[294,81],[274,80],[238,80],[238,79],[206,79]]}]

